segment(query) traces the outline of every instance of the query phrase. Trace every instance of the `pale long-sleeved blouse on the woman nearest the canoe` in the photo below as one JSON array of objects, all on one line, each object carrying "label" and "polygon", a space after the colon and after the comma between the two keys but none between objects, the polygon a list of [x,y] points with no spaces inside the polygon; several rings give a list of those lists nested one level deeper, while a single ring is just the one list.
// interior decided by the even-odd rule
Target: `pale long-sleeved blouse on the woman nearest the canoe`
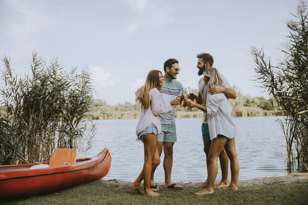
[{"label": "pale long-sleeved blouse on the woman nearest the canoe", "polygon": [[159,133],[162,133],[162,127],[159,115],[162,113],[171,113],[172,107],[169,103],[165,103],[162,99],[160,92],[153,88],[149,91],[151,106],[145,110],[141,109],[140,119],[136,127],[136,135],[148,127],[151,123],[156,125]]}]

